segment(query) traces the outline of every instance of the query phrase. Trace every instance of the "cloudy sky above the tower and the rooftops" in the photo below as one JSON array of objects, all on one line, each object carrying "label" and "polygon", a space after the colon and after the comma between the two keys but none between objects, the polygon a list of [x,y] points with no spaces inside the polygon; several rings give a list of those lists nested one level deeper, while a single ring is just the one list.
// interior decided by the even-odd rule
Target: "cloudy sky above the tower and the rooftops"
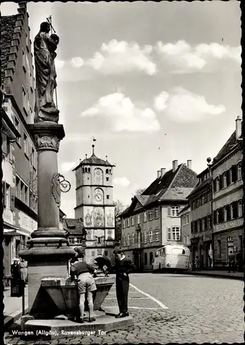
[{"label": "cloudy sky above the tower and the rooftops", "polygon": [[[2,15],[16,13],[16,3],[1,3]],[[72,184],[61,197],[67,217],[76,206],[72,168],[92,144],[116,165],[114,200],[128,205],[175,159],[202,172],[235,130],[239,1],[30,2],[28,13],[32,42],[50,15],[60,37],[58,168]]]}]

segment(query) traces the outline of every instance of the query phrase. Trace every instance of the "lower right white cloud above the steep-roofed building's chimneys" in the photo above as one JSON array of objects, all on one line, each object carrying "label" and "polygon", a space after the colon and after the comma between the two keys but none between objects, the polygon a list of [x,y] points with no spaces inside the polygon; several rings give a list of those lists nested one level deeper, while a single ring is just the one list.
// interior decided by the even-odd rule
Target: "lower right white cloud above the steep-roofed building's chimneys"
[{"label": "lower right white cloud above the steep-roofed building's chimneys", "polygon": [[[161,98],[162,94],[164,94],[165,98]],[[162,99],[159,110],[164,110],[164,113],[173,121],[182,123],[201,121],[208,115],[220,115],[226,110],[223,105],[214,106],[209,104],[204,96],[195,95],[184,88],[176,88],[172,95],[162,92],[156,97],[156,99],[158,98]]]}]

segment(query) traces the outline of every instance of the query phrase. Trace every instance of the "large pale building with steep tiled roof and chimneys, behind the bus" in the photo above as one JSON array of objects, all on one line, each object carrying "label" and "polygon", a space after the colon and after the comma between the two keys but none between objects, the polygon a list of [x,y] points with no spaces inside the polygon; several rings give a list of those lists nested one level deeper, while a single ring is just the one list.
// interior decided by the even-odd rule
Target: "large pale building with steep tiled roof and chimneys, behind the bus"
[{"label": "large pale building with steep tiled roof and chimneys, behind the bus", "polygon": [[191,160],[187,165],[175,160],[171,170],[159,170],[157,179],[121,213],[122,248],[138,270],[151,270],[163,244],[181,242],[180,210],[188,204],[187,195],[196,182]]}]

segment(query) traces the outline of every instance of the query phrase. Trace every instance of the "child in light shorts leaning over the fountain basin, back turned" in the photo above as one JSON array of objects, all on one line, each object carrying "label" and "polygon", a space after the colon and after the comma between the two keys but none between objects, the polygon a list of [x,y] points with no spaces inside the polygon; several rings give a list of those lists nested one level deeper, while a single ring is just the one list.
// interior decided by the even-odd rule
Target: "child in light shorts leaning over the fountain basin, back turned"
[{"label": "child in light shorts leaning over the fountain basin, back turned", "polygon": [[[84,261],[85,252],[84,248],[77,248],[78,257],[76,262],[71,264],[70,275],[74,279],[78,278],[78,293],[79,293],[79,310],[80,310],[80,322],[84,322],[84,309],[85,309],[85,294],[87,294],[87,304],[89,306],[89,322],[94,322],[94,302],[93,292],[97,290],[96,283],[94,280],[94,267],[87,264]],[[78,258],[83,261],[78,261]]]}]

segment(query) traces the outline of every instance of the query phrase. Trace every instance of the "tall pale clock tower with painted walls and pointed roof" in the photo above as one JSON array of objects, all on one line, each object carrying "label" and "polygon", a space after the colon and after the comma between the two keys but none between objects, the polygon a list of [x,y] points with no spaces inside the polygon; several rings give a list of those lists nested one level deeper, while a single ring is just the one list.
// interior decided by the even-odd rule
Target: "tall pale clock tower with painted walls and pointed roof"
[{"label": "tall pale clock tower with painted walls and pointed roof", "polygon": [[100,256],[112,257],[115,242],[115,217],[112,170],[114,165],[94,154],[80,161],[76,174],[75,218],[82,218],[87,232],[86,262]]}]

